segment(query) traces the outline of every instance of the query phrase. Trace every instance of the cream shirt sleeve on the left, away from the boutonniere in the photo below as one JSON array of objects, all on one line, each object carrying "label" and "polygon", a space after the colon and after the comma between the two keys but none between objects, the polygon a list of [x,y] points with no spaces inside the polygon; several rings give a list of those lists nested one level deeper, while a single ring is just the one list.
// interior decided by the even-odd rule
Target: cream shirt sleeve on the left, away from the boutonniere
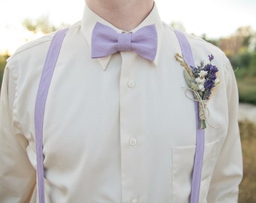
[{"label": "cream shirt sleeve on the left, away from the boutonniere", "polygon": [[29,202],[35,188],[35,168],[29,162],[29,142],[14,123],[16,82],[5,68],[0,96],[0,202]]}]

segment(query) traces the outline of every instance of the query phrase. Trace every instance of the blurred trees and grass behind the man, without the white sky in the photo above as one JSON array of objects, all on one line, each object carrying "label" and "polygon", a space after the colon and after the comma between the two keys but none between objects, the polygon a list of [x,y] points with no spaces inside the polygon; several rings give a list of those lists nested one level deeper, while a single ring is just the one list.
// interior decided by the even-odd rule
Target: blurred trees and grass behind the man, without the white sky
[{"label": "blurred trees and grass behind the man, without the white sky", "polygon": [[[24,26],[30,32],[52,32],[57,29],[43,22],[32,23],[24,20]],[[181,25],[172,25],[182,28]],[[225,38],[209,39],[206,41],[220,47],[230,59],[239,86],[239,102],[256,105],[256,32],[250,26],[240,27],[235,33]],[[9,55],[0,56],[0,83],[2,83],[6,59]],[[239,122],[244,159],[244,177],[239,189],[240,203],[256,202],[256,120]]]}]

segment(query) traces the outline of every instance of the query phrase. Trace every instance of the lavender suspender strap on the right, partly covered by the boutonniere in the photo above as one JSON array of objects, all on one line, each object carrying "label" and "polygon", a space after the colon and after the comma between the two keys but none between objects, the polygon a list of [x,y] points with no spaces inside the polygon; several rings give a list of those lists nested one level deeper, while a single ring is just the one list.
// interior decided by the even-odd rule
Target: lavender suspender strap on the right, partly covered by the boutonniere
[{"label": "lavender suspender strap on the right, partly covered by the boutonniere", "polygon": [[[189,66],[195,66],[191,47],[189,42],[187,41],[187,38],[185,37],[183,32],[180,32],[178,30],[175,30],[175,34],[181,46],[181,52],[185,59],[185,62],[187,62],[187,65]],[[201,174],[202,174],[202,168],[203,168],[203,153],[204,153],[204,147],[205,147],[205,131],[204,129],[200,129],[198,102],[194,102],[194,107],[195,107],[196,124],[197,124],[197,145],[196,145],[196,152],[195,152],[195,158],[194,158],[194,170],[193,170],[192,186],[191,186],[191,193],[190,193],[190,203],[199,202]]]}]

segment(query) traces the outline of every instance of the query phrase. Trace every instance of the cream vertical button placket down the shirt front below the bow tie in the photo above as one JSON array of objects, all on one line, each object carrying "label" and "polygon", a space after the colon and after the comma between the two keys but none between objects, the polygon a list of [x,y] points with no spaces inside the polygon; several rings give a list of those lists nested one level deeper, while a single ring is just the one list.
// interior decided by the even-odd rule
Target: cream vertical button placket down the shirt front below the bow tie
[{"label": "cream vertical button placket down the shirt front below the bow tie", "polygon": [[[139,132],[141,132],[140,122],[137,122],[138,104],[135,101],[138,98],[137,70],[133,61],[136,54],[133,52],[121,52],[122,68],[120,73],[120,160],[121,160],[121,186],[122,202],[137,201],[137,194],[142,193],[142,188],[138,188],[138,181],[141,179],[144,171],[134,173],[136,165],[142,162],[142,157],[137,156],[142,148]],[[136,79],[136,80],[134,80]],[[138,79],[139,80],[139,79]],[[142,162],[143,165],[143,162]]]}]

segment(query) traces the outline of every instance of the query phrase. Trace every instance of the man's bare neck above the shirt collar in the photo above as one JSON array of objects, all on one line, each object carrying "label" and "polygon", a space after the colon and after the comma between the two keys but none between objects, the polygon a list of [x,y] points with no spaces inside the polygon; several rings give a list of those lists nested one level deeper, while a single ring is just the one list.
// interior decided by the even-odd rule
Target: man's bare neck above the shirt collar
[{"label": "man's bare neck above the shirt collar", "polygon": [[99,17],[123,31],[130,31],[148,16],[154,0],[86,0]]}]

